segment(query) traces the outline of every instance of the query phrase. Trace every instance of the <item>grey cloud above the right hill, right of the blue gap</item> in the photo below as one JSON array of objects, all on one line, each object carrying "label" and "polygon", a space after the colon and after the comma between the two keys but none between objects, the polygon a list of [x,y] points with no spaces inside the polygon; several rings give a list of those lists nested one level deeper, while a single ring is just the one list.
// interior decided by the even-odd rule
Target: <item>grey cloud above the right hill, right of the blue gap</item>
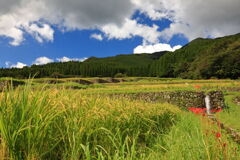
[{"label": "grey cloud above the right hill, right of the blue gap", "polygon": [[197,37],[219,37],[240,32],[239,0],[132,0],[152,19],[167,18],[173,23],[161,33],[169,40],[184,34]]}]

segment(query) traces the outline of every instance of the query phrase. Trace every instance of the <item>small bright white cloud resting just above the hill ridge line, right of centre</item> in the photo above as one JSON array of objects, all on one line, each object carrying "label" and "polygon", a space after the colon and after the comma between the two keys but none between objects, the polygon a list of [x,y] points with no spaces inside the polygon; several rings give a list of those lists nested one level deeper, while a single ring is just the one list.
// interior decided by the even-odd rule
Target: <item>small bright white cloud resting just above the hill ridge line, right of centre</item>
[{"label": "small bright white cloud resting just above the hill ridge line, right of centre", "polygon": [[155,45],[139,45],[134,50],[134,54],[141,54],[141,53],[155,53],[155,52],[162,52],[162,51],[170,51],[174,52],[177,49],[180,49],[182,46],[177,45],[171,47],[169,44],[158,43]]}]

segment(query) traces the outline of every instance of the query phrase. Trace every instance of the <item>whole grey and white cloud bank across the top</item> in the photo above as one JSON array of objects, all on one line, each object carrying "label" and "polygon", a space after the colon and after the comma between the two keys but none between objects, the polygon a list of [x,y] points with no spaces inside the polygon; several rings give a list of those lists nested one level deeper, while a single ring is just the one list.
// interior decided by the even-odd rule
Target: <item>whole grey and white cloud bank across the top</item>
[{"label": "whole grey and white cloud bank across the top", "polygon": [[[239,0],[7,0],[0,6],[0,36],[14,46],[23,43],[26,33],[40,43],[53,41],[51,26],[62,31],[98,29],[109,39],[139,36],[149,43],[179,33],[189,40],[224,36],[239,32],[240,26]],[[162,32],[159,26],[138,24],[131,19],[136,10],[172,24]]]}]

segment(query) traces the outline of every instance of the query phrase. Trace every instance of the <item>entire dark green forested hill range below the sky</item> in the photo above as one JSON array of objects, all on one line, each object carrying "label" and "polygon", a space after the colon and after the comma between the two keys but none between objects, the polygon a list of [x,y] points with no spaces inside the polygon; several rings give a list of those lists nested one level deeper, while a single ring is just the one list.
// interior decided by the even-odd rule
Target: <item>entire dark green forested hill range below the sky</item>
[{"label": "entire dark green forested hill range below the sky", "polygon": [[0,69],[0,77],[182,77],[239,78],[240,34],[217,39],[198,38],[175,52],[91,57],[84,62],[50,63],[23,69]]}]

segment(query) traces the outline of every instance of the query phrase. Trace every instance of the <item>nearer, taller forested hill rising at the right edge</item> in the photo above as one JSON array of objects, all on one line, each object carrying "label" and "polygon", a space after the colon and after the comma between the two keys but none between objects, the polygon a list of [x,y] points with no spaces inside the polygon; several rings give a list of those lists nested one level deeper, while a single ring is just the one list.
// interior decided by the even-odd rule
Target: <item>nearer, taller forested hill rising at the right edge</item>
[{"label": "nearer, taller forested hill rising at the right edge", "polygon": [[183,48],[165,54],[152,66],[156,68],[155,75],[160,77],[240,78],[240,34],[195,39]]}]

